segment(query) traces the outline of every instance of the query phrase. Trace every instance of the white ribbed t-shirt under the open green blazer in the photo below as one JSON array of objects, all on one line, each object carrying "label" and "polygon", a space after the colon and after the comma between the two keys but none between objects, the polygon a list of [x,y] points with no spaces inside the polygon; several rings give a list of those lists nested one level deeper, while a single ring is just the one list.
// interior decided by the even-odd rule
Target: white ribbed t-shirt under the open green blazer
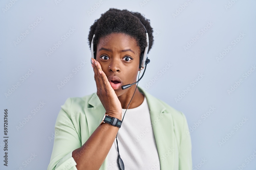
[{"label": "white ribbed t-shirt under the open green blazer", "polygon": [[[123,109],[122,117],[125,110]],[[160,170],[159,156],[146,97],[144,97],[140,106],[127,109],[117,140],[119,153],[126,170]],[[115,140],[107,156],[107,169],[119,170],[117,156]]]}]

